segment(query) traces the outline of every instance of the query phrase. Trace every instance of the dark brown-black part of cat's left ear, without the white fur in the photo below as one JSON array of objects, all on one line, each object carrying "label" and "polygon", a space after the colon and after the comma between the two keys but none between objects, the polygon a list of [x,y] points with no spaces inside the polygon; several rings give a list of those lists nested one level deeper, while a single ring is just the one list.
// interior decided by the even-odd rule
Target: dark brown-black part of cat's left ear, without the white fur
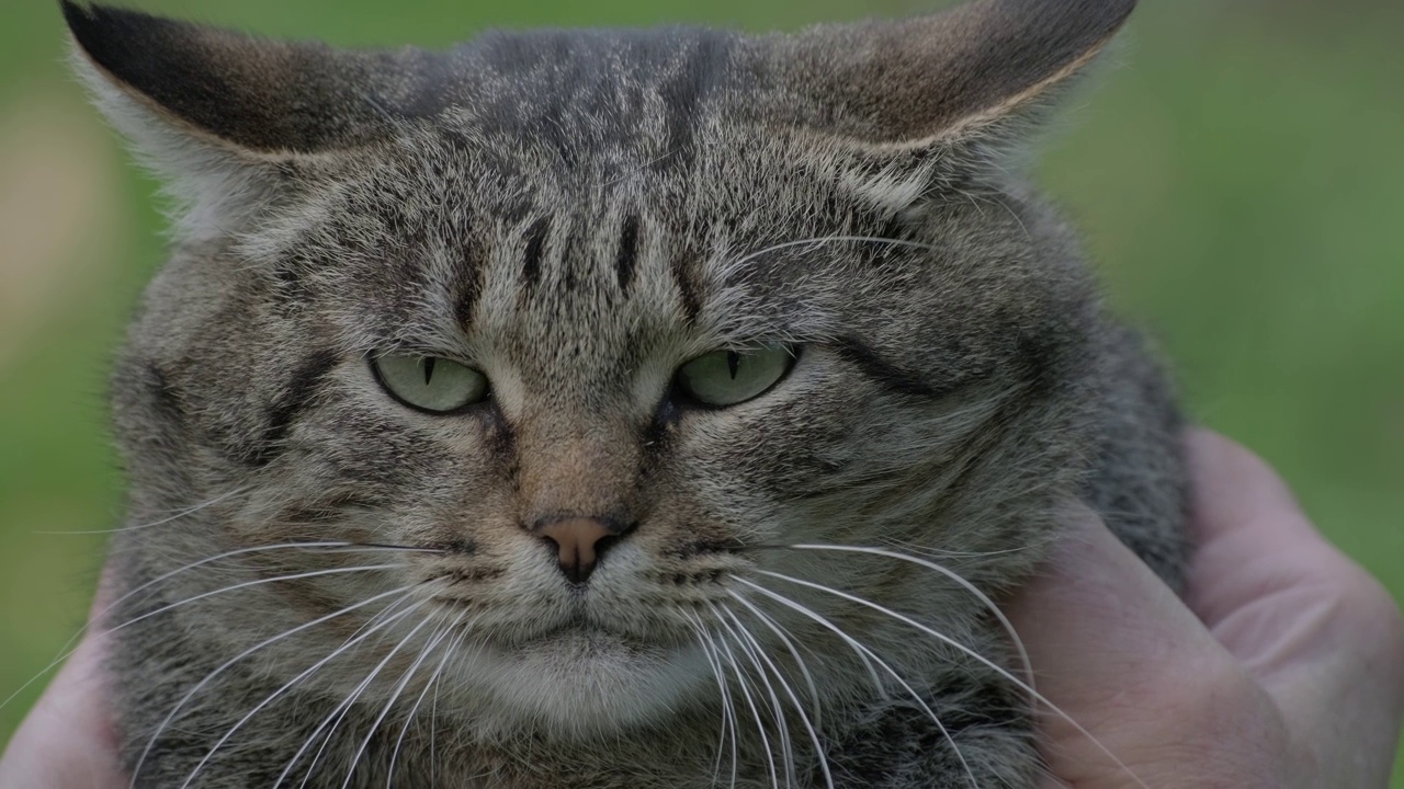
[{"label": "dark brown-black part of cat's left ear, without the white fur", "polygon": [[420,90],[438,56],[267,41],[62,0],[81,53],[157,115],[234,147],[313,153],[383,136],[441,107]]}]

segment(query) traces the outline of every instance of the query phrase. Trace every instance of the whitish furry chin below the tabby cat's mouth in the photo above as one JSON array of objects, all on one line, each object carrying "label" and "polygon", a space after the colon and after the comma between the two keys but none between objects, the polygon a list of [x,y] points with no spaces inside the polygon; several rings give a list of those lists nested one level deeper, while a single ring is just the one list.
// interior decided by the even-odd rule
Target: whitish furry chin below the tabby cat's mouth
[{"label": "whitish furry chin below the tabby cat's mouth", "polygon": [[482,724],[564,738],[657,723],[715,691],[696,644],[649,644],[594,628],[484,646],[458,668],[465,685],[490,699],[491,709],[472,710]]}]

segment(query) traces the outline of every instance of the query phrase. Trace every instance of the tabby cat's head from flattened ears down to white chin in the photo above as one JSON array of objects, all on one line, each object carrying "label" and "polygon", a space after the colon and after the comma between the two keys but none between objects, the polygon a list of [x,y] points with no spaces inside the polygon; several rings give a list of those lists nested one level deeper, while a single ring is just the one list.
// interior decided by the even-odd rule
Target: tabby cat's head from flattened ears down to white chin
[{"label": "tabby cat's head from flattened ears down to white chin", "polygon": [[[910,632],[765,573],[963,628],[981,605],[938,574],[786,546],[949,552],[986,588],[1035,559],[1098,319],[1011,156],[1132,4],[448,52],[66,4],[180,201],[115,376],[133,522],[168,521],[125,539],[147,576],[298,576],[190,615],[230,644],[379,595],[288,643],[310,663],[395,604],[380,653],[451,656],[445,694],[515,722],[658,719],[740,629],[782,644],[762,614],[858,692],[761,588]],[[351,545],[265,550],[316,542]]]}]

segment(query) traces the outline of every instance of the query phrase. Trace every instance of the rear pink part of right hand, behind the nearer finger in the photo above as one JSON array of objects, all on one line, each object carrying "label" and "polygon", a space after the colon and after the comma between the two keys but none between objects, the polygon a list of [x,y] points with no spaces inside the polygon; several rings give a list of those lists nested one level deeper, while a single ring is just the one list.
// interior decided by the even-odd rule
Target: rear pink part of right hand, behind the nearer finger
[{"label": "rear pink part of right hand, behind the nearer finger", "polygon": [[1205,431],[1186,446],[1200,541],[1189,605],[1317,754],[1324,785],[1383,786],[1404,716],[1398,608],[1255,455]]}]

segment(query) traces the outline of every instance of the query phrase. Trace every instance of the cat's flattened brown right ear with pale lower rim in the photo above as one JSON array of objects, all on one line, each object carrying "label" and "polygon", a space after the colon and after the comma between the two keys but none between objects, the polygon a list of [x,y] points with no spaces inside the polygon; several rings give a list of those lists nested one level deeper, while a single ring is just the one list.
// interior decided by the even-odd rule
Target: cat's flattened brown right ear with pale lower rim
[{"label": "cat's flattened brown right ear with pale lower rim", "polygon": [[781,58],[830,133],[887,150],[1036,118],[1106,45],[1136,0],[979,0],[932,17],[814,28]]}]

